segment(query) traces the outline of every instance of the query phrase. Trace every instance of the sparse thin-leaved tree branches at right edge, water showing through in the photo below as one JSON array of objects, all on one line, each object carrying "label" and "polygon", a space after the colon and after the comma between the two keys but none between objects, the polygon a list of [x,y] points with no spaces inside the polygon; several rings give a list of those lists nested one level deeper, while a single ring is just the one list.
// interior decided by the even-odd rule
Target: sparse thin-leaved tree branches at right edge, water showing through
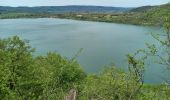
[{"label": "sparse thin-leaved tree branches at right edge, water showing through", "polygon": [[[153,57],[157,63],[170,68],[170,17],[164,18],[164,33],[151,33],[152,37],[157,40],[155,44],[147,43],[147,49],[141,50],[146,58]],[[170,84],[170,81],[168,81]]]}]

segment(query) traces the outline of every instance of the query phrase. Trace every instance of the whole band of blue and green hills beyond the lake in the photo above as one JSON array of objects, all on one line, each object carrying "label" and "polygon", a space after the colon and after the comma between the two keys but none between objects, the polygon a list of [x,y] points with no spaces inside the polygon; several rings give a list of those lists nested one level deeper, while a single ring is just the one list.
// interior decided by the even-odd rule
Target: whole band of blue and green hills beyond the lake
[{"label": "whole band of blue and green hills beyond the lake", "polygon": [[0,18],[66,18],[111,23],[161,25],[170,17],[170,4],[139,8],[100,6],[0,7]]}]

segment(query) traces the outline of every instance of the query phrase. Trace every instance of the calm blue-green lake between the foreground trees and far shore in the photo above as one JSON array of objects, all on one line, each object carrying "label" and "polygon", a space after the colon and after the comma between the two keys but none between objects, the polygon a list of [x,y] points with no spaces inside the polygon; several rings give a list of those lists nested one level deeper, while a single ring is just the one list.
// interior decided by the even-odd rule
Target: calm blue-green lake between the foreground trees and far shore
[{"label": "calm blue-green lake between the foreground trees and far shore", "polygon": [[[105,66],[127,69],[126,54],[154,42],[148,33],[162,32],[156,27],[76,21],[68,19],[1,19],[0,38],[18,35],[36,48],[35,55],[56,51],[68,58],[77,57],[88,73],[98,73]],[[145,83],[162,83],[166,70],[152,65],[146,68]]]}]

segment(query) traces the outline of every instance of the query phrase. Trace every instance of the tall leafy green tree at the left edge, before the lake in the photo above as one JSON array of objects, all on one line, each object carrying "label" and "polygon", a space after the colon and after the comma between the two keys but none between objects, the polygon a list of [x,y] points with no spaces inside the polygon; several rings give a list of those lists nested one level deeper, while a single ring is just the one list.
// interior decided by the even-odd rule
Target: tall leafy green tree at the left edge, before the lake
[{"label": "tall leafy green tree at the left edge, before the lake", "polygon": [[[0,91],[14,93],[16,97],[23,95],[22,86],[29,79],[34,50],[19,37],[0,40]],[[3,93],[2,93],[3,94]]]}]

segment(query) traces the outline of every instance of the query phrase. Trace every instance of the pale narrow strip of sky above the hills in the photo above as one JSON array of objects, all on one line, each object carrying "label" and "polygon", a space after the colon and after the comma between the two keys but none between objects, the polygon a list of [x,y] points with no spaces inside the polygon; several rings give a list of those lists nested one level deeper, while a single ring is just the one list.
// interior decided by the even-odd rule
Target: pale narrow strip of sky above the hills
[{"label": "pale narrow strip of sky above the hills", "polygon": [[63,5],[98,5],[116,7],[138,7],[159,5],[170,0],[0,0],[0,6],[63,6]]}]

